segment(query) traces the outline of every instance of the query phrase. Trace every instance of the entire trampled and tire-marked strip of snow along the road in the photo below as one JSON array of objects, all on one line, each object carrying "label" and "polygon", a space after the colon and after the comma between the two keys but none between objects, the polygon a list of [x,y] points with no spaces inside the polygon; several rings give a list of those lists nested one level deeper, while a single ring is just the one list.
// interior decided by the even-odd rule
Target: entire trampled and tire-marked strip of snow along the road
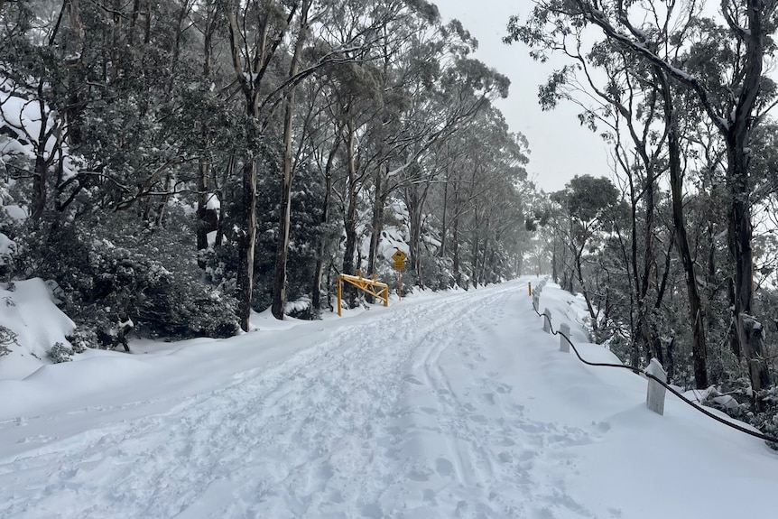
[{"label": "entire trampled and tire-marked strip of snow along the road", "polygon": [[[496,337],[482,323],[515,291],[509,284],[395,307],[168,412],[0,462],[0,516],[553,512],[548,503],[568,496],[530,479],[538,461],[556,463],[542,452],[556,431],[524,418],[512,388],[483,371]],[[545,501],[527,507],[512,497],[517,487]]]}]

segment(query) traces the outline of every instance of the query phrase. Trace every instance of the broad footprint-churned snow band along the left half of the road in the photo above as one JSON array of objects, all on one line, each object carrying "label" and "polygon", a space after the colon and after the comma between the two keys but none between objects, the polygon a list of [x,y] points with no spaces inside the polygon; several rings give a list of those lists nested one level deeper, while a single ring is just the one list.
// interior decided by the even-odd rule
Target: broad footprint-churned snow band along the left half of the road
[{"label": "broad footprint-churned snow band along the left half of the road", "polygon": [[[184,516],[196,514],[199,496],[221,487],[222,494],[230,489],[216,511],[224,516],[302,516],[311,506],[338,514],[359,501],[369,515],[374,503],[363,497],[386,486],[372,477],[375,423],[392,418],[386,410],[394,409],[417,345],[386,348],[366,338],[391,338],[409,320],[422,328],[421,316],[440,319],[450,304],[434,301],[415,315],[385,312],[171,412],[26,452],[0,469],[11,482],[0,486],[0,510],[14,517]],[[355,477],[362,482],[355,485]],[[14,488],[26,497],[14,498]],[[55,510],[66,497],[69,509]]]}]

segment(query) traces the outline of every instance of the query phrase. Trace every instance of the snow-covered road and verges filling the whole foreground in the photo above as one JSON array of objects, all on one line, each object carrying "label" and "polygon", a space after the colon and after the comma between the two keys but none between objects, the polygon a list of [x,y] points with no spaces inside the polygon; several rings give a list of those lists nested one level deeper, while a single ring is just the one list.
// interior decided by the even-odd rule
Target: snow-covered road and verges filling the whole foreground
[{"label": "snow-covered road and verges filling the whole foreground", "polygon": [[0,381],[0,517],[773,516],[775,452],[560,353],[527,281]]}]

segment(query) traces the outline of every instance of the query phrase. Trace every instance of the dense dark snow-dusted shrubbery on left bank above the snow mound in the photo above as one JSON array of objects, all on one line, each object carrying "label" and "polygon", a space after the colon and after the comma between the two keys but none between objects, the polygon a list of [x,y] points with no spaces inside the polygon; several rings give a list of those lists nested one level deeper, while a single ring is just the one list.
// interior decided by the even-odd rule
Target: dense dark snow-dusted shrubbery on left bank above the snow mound
[{"label": "dense dark snow-dusted shrubbery on left bank above the snow mound", "polygon": [[153,338],[236,332],[234,298],[200,281],[193,229],[170,213],[170,228],[117,213],[23,236],[21,266],[59,285],[62,310],[79,324],[74,344],[115,348],[126,320]]}]

